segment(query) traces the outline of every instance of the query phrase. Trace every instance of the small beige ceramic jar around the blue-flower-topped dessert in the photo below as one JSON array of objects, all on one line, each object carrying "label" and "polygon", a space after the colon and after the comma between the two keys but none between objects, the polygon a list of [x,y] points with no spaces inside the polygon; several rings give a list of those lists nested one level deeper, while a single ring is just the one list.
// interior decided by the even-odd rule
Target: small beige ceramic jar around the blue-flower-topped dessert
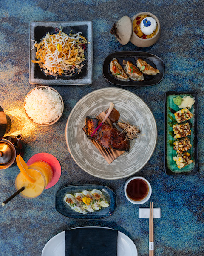
[{"label": "small beige ceramic jar around the blue-flower-topped dessert", "polygon": [[135,34],[135,32],[133,31],[133,28],[132,28],[132,35],[131,35],[131,38],[130,38],[130,42],[132,44],[138,46],[138,47],[149,47],[149,46],[155,44],[156,41],[159,39],[159,36],[160,36],[160,33],[161,33],[160,23],[159,23],[158,18],[150,12],[140,12],[140,13],[134,15],[131,18],[132,23],[133,23],[133,21],[135,20],[136,17],[139,17],[141,15],[147,15],[149,17],[153,17],[156,20],[156,23],[158,25],[158,30],[152,38],[143,39],[143,38],[140,38],[139,36],[137,36]]}]

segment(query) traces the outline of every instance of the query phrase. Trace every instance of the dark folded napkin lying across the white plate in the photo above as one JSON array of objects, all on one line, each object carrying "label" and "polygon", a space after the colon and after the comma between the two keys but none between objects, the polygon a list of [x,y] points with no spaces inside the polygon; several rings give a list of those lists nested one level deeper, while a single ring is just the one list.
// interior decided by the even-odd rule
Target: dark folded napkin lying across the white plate
[{"label": "dark folded napkin lying across the white plate", "polygon": [[77,228],[65,231],[65,256],[117,256],[118,231]]}]

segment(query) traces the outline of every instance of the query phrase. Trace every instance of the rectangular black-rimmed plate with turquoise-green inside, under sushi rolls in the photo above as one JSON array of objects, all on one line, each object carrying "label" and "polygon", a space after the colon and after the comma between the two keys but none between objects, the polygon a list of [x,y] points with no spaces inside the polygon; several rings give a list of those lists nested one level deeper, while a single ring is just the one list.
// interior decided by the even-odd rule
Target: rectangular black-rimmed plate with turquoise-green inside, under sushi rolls
[{"label": "rectangular black-rimmed plate with turquoise-green inside, under sushi rolls", "polygon": [[[178,111],[181,108],[178,108],[173,102],[173,98],[176,96],[185,96],[189,95],[195,98],[195,103],[192,105],[190,112],[193,113],[193,118],[188,120],[191,128],[190,138],[192,148],[188,150],[191,155],[193,163],[185,166],[182,169],[179,169],[176,165],[176,162],[173,160],[173,157],[177,155],[176,150],[173,149],[173,146],[170,145],[170,141],[174,141],[170,133],[173,132],[173,128],[169,125],[172,122],[170,116],[174,118],[173,113],[169,110],[169,107],[175,111]],[[174,118],[175,119],[175,118]],[[198,174],[198,93],[196,92],[167,92],[165,93],[164,101],[164,167],[167,175],[196,175]]]}]

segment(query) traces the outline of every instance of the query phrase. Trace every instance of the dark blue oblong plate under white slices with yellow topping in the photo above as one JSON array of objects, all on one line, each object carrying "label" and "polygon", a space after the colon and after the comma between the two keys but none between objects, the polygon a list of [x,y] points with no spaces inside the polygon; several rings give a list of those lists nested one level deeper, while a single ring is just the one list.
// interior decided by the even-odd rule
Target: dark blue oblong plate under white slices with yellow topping
[{"label": "dark blue oblong plate under white slices with yellow topping", "polygon": [[[107,199],[108,203],[110,204],[109,207],[102,207],[99,211],[88,212],[87,214],[82,214],[79,212],[75,212],[71,207],[68,206],[63,200],[65,194],[70,193],[74,195],[74,193],[82,192],[82,190],[91,191],[93,189],[99,189],[104,194],[105,198]],[[57,212],[61,213],[65,217],[68,218],[75,218],[75,219],[101,219],[110,217],[116,209],[117,198],[116,194],[108,188],[107,186],[102,185],[69,185],[64,186],[62,189],[59,189],[56,198],[55,198],[55,208]]]}]

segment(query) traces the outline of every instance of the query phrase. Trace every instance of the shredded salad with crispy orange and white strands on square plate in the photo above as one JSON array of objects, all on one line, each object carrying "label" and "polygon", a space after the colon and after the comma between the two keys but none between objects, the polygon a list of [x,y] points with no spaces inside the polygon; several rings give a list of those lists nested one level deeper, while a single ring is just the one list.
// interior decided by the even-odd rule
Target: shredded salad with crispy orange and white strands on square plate
[{"label": "shredded salad with crispy orange and white strands on square plate", "polygon": [[[33,63],[38,63],[45,75],[56,76],[62,74],[72,76],[81,72],[85,61],[84,50],[87,40],[82,32],[77,34],[65,34],[62,28],[57,29],[59,33],[45,35],[40,43],[35,43],[36,59]],[[55,30],[56,31],[56,30]]]}]

